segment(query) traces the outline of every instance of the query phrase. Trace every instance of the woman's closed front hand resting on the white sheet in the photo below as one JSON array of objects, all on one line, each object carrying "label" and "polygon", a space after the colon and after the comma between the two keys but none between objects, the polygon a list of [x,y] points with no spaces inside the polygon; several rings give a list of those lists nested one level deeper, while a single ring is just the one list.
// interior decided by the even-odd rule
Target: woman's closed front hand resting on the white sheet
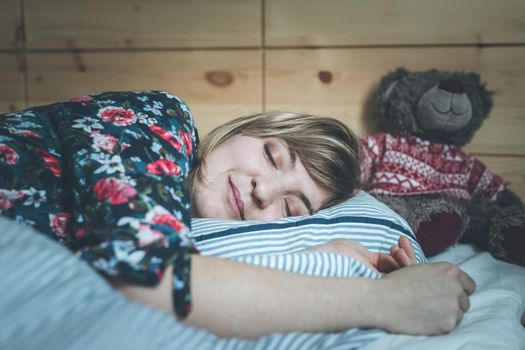
[{"label": "woman's closed front hand resting on the white sheet", "polygon": [[373,323],[393,333],[435,335],[452,331],[470,308],[476,284],[450,263],[418,264],[377,281]]}]

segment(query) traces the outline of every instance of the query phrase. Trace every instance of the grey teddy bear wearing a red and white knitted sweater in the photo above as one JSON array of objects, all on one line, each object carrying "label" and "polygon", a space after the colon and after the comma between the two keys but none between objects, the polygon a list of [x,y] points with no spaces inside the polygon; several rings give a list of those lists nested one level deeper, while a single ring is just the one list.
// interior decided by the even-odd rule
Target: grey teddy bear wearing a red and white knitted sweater
[{"label": "grey teddy bear wearing a red and white knitted sweater", "polygon": [[365,190],[406,219],[427,256],[464,242],[525,266],[523,201],[461,150],[492,109],[480,76],[400,67],[376,103],[385,130],[362,137]]}]

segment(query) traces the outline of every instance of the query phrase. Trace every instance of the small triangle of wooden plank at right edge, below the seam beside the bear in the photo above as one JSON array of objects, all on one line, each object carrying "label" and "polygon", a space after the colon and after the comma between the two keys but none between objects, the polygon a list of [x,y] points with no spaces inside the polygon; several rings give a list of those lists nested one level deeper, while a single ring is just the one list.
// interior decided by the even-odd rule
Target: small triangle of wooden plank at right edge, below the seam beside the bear
[{"label": "small triangle of wooden plank at right edge, below the seam beside the bear", "polygon": [[524,157],[494,157],[479,156],[485,165],[510,181],[510,189],[525,201],[525,158]]}]

